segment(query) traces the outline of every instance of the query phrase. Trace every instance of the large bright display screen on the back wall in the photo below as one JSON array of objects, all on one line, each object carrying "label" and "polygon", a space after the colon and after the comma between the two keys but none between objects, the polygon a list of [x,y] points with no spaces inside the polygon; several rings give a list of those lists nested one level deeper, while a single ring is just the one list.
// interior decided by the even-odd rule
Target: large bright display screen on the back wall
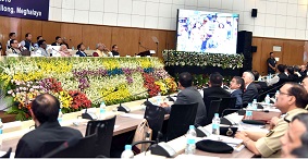
[{"label": "large bright display screen on the back wall", "polygon": [[238,14],[177,11],[177,51],[236,53]]}]

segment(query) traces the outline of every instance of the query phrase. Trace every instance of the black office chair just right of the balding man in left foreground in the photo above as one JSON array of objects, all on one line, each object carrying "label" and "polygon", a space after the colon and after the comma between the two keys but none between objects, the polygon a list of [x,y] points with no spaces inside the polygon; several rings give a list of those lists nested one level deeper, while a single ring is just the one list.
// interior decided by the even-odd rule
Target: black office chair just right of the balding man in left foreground
[{"label": "black office chair just right of the balding man in left foreground", "polygon": [[86,136],[97,134],[95,146],[96,156],[110,157],[110,148],[115,124],[115,118],[108,120],[89,121],[87,124]]}]

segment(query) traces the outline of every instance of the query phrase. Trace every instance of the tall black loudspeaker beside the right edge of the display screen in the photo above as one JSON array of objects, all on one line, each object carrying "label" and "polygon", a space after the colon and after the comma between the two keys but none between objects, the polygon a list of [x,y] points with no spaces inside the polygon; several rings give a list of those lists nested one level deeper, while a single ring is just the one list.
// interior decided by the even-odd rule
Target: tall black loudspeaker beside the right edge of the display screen
[{"label": "tall black loudspeaker beside the right edge of the display screen", "polygon": [[243,53],[245,58],[251,58],[251,42],[252,32],[241,30],[237,34],[237,47],[236,52]]}]

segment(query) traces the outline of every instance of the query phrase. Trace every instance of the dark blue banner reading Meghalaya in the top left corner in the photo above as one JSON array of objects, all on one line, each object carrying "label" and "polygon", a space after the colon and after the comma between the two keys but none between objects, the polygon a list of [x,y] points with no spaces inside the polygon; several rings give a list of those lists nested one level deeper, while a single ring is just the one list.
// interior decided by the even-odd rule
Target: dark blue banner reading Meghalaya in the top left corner
[{"label": "dark blue banner reading Meghalaya in the top left corner", "polygon": [[49,0],[0,0],[0,15],[48,21]]}]

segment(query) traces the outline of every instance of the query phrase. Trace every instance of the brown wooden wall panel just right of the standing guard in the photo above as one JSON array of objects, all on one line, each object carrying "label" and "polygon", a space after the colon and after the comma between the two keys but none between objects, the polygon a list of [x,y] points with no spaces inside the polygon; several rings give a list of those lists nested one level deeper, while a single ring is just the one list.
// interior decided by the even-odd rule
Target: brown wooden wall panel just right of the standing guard
[{"label": "brown wooden wall panel just right of the standing guard", "polygon": [[305,41],[284,40],[282,63],[287,65],[304,64],[304,46]]}]

